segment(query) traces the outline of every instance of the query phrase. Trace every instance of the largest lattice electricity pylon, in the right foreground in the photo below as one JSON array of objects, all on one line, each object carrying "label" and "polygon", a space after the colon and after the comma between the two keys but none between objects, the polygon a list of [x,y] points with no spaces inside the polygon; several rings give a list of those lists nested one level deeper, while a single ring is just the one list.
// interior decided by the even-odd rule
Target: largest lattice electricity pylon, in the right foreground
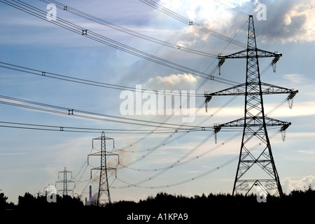
[{"label": "largest lattice electricity pylon, in the right foreground", "polygon": [[242,193],[247,195],[254,186],[259,186],[266,195],[277,195],[280,197],[283,195],[279,175],[276,172],[276,166],[272,156],[267,127],[281,126],[280,131],[284,132],[291,123],[265,116],[262,95],[287,93],[289,94],[287,97],[289,101],[293,99],[298,91],[262,83],[258,64],[259,57],[274,57],[271,65],[275,68],[275,64],[281,56],[282,55],[279,53],[257,48],[253,15],[249,15],[246,50],[241,50],[231,55],[218,55],[219,68],[223,65],[225,59],[246,59],[246,83],[235,85],[218,92],[207,92],[204,94],[206,104],[213,96],[245,96],[244,118],[216,125],[215,130],[216,134],[222,127],[243,127],[243,137],[241,139],[241,150],[239,153],[233,195]]}]

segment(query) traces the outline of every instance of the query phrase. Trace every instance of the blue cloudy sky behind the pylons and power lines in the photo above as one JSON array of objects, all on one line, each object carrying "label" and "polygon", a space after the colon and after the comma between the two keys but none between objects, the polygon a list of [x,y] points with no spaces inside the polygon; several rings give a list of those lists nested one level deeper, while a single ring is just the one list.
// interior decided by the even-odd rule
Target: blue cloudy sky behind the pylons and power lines
[{"label": "blue cloudy sky behind the pylons and power lines", "polygon": [[[138,0],[60,2],[96,18],[175,46],[212,55],[219,53],[228,55],[244,50],[185,25]],[[291,190],[308,188],[310,184],[315,186],[315,94],[312,91],[315,87],[313,74],[315,52],[312,50],[315,47],[315,18],[312,16],[315,13],[314,1],[161,0],[156,2],[188,20],[218,34],[235,38],[241,43],[247,41],[248,15],[253,15],[258,48],[270,52],[278,51],[283,55],[276,64],[276,72],[269,69],[263,73],[262,82],[299,91],[294,97],[292,109],[289,109],[288,103],[285,103],[268,114],[269,117],[292,123],[286,130],[285,141],[282,141],[281,134],[271,139],[272,152],[283,191],[290,193]],[[47,7],[48,3],[35,0],[27,3],[47,13],[50,11]],[[266,6],[265,20],[259,17],[261,15],[260,8],[257,8],[259,3]],[[85,27],[87,36],[92,34],[90,31],[94,31],[113,41],[190,69],[209,74],[218,63],[218,59],[214,57],[197,55],[146,41],[72,15],[66,10],[57,8],[56,15],[57,18]],[[201,76],[169,68],[99,43],[87,38],[86,35],[58,27],[47,19],[41,20],[3,2],[0,3],[0,27],[0,62],[113,85],[132,88],[141,85],[146,90],[178,90],[179,92],[195,90],[197,94],[203,94],[204,91],[216,92],[231,87],[214,80],[203,83],[204,78]],[[265,68],[271,60],[272,58],[260,59],[260,69]],[[217,70],[214,76],[218,77]],[[221,67],[219,78],[244,83],[246,60],[227,59]],[[157,123],[162,123],[167,118],[166,123],[179,126],[183,123],[182,115],[172,117],[144,113],[123,115],[120,106],[125,99],[120,97],[121,92],[124,91],[121,89],[35,76],[3,67],[0,67],[0,79],[1,96]],[[137,98],[135,95],[134,97],[137,104]],[[286,97],[286,94],[264,96],[266,113],[272,111],[274,106],[283,102]],[[236,97],[227,104],[232,98],[232,96],[214,97],[209,102],[206,113],[202,104],[204,97],[195,97],[195,106],[190,109],[196,110],[197,113],[193,122],[187,125],[212,127],[216,123],[242,118],[244,97]],[[156,99],[158,100],[158,97]],[[12,101],[1,97],[1,102]],[[197,110],[199,107],[200,110]],[[206,118],[208,119],[199,125]],[[8,201],[15,204],[18,203],[19,195],[24,195],[26,192],[36,195],[38,192],[43,193],[48,185],[55,185],[56,181],[60,181],[58,172],[62,172],[64,167],[72,172],[75,188],[73,189],[71,184],[69,188],[74,190],[74,195],[84,200],[88,197],[89,185],[92,185],[95,195],[98,173],[92,172],[91,179],[90,169],[99,166],[99,158],[90,158],[87,164],[87,155],[96,152],[99,148],[99,142],[95,141],[92,149],[92,139],[100,137],[103,129],[130,130],[119,133],[106,131],[106,137],[115,141],[115,148],[111,142],[106,148],[113,150],[113,153],[118,153],[120,160],[118,165],[117,158],[109,157],[108,165],[121,167],[121,165],[132,164],[130,168],[118,169],[117,178],[113,172],[109,172],[112,201],[138,201],[161,191],[187,196],[202,193],[206,195],[232,193],[237,160],[229,161],[239,155],[241,132],[218,132],[215,144],[211,130],[150,134],[155,127],[78,118],[3,103],[0,104],[0,120],[10,123],[99,129],[99,133],[82,133],[0,127],[0,189],[1,193],[8,196]],[[133,134],[132,130],[146,130],[146,134]],[[278,130],[269,130],[269,135]],[[123,148],[124,151],[117,150],[119,148]],[[193,153],[181,159],[194,148]],[[154,171],[154,169],[170,167],[177,160],[184,163],[165,172]],[[188,162],[189,160],[191,161]],[[226,162],[228,165],[225,166]],[[200,178],[196,178],[198,176]],[[151,178],[149,181],[141,183],[149,178]],[[190,181],[169,186],[186,180]],[[124,188],[128,184],[135,183],[141,184],[137,187]],[[57,184],[57,189],[62,190],[62,185]]]}]

